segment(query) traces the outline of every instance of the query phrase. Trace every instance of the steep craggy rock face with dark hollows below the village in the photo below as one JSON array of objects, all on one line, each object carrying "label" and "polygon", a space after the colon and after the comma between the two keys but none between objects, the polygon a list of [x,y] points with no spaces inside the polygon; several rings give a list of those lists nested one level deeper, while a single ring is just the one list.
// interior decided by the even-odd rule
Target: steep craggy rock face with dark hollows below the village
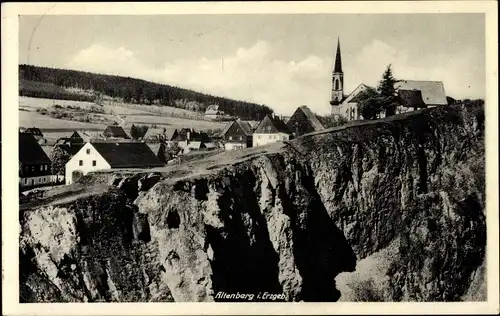
[{"label": "steep craggy rock face with dark hollows below the village", "polygon": [[25,210],[20,300],[484,299],[483,113],[306,135],[204,175],[117,178]]}]

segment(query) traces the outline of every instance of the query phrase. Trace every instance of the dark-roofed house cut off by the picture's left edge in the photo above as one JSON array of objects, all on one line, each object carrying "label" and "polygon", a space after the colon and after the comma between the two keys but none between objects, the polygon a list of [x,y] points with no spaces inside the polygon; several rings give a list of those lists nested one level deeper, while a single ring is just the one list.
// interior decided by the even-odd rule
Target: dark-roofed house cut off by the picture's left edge
[{"label": "dark-roofed house cut off by the picture's left edge", "polygon": [[52,162],[31,133],[19,133],[19,183],[33,187],[52,183]]}]

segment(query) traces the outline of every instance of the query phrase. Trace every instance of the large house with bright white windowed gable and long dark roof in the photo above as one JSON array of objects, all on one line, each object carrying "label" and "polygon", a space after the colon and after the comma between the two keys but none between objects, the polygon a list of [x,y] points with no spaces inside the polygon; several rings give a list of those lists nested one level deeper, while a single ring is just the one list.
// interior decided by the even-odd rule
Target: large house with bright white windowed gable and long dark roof
[{"label": "large house with bright white windowed gable and long dark roof", "polygon": [[66,184],[97,170],[154,168],[164,164],[144,142],[88,142],[66,163]]}]

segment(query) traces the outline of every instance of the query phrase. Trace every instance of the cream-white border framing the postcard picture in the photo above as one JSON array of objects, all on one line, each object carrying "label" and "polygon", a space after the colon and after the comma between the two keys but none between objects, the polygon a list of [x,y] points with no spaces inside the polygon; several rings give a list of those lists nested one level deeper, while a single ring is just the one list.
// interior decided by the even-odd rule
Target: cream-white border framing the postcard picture
[{"label": "cream-white border framing the postcard picture", "polygon": [[[499,313],[498,33],[496,1],[2,3],[2,305],[5,315],[476,314]],[[487,302],[19,304],[18,15],[232,13],[484,13],[486,32]]]}]

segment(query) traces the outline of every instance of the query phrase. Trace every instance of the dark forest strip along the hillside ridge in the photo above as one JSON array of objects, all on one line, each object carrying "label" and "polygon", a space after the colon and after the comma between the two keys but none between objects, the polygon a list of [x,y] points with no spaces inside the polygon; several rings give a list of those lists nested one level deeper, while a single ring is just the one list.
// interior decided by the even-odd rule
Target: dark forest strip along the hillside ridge
[{"label": "dark forest strip along the hillside ridge", "polygon": [[[65,88],[94,91],[95,95],[70,92]],[[109,96],[126,103],[172,106],[198,112],[204,112],[211,104],[218,104],[219,109],[226,114],[246,120],[261,120],[266,114],[273,112],[265,105],[136,78],[32,65],[19,65],[19,94],[75,101],[95,101],[102,96]]]}]

